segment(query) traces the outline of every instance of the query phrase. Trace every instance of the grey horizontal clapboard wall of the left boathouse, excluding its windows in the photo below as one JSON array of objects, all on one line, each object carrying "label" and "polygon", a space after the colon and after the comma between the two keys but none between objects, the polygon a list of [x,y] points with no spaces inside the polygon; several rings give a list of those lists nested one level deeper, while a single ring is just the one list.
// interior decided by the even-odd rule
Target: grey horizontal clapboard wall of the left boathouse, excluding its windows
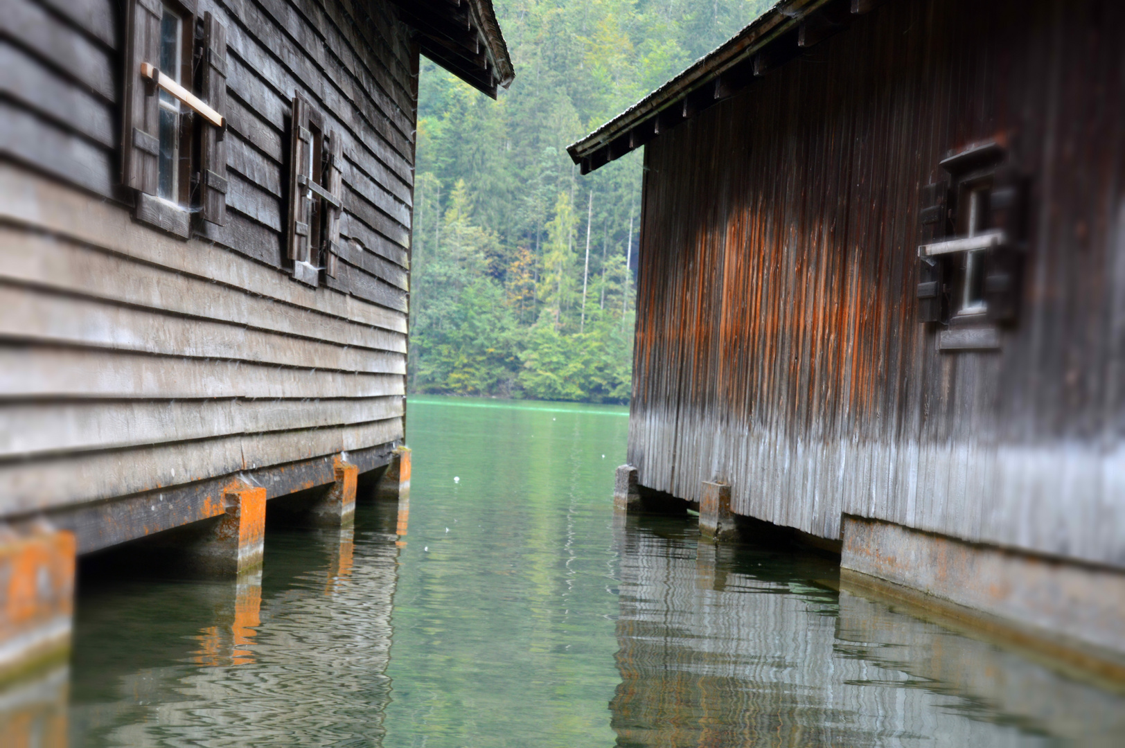
[{"label": "grey horizontal clapboard wall of the left boathouse, excluding its windows", "polygon": [[[119,3],[0,12],[0,515],[309,459],[297,484],[332,480],[325,456],[385,463],[403,438],[416,48],[381,0],[204,11],[227,29],[230,191],[187,242],[119,187]],[[295,93],[345,141],[343,292],[282,269]],[[181,510],[144,498],[80,550]]]}]

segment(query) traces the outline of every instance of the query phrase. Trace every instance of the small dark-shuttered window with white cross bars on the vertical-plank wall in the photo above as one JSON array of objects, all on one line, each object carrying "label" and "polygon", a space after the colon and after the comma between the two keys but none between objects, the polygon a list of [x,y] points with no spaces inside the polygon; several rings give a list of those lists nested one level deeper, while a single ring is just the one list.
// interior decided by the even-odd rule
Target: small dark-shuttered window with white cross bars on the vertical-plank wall
[{"label": "small dark-shuttered window with white cross bars on the vertical-plank wall", "polygon": [[940,350],[999,346],[1015,322],[1023,255],[1023,184],[997,143],[951,153],[948,174],[921,191],[919,317],[939,323]]}]

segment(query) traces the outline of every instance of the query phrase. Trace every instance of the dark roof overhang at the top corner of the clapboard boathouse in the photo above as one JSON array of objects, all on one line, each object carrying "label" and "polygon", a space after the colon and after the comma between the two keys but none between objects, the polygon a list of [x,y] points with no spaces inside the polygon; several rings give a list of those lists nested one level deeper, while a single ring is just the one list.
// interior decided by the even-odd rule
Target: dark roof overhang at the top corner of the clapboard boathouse
[{"label": "dark roof overhang at the top corner of the clapboard boathouse", "polygon": [[496,98],[515,78],[492,0],[390,0],[422,53]]}]

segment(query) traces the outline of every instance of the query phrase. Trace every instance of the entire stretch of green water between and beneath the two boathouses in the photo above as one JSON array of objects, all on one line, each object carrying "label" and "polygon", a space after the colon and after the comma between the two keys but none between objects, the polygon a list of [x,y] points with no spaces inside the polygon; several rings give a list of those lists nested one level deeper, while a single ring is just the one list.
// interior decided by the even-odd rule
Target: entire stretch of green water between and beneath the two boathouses
[{"label": "entire stretch of green water between and beneath the two boathouses", "polygon": [[1119,694],[828,557],[614,515],[626,416],[415,398],[408,507],[271,525],[241,584],[88,564],[69,672],[7,697],[72,746],[1120,745]]}]

